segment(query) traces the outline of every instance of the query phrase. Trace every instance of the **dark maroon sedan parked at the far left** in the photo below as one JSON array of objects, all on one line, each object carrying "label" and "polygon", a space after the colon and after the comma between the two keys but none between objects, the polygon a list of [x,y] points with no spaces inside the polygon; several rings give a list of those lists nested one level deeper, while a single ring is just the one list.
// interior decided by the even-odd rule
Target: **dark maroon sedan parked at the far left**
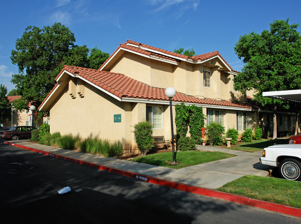
[{"label": "dark maroon sedan parked at the far left", "polygon": [[[34,128],[36,129],[36,128]],[[5,138],[7,140],[19,140],[21,138],[31,138],[32,137],[32,127],[31,126],[15,126],[11,127],[7,131],[0,132],[0,138]]]}]

